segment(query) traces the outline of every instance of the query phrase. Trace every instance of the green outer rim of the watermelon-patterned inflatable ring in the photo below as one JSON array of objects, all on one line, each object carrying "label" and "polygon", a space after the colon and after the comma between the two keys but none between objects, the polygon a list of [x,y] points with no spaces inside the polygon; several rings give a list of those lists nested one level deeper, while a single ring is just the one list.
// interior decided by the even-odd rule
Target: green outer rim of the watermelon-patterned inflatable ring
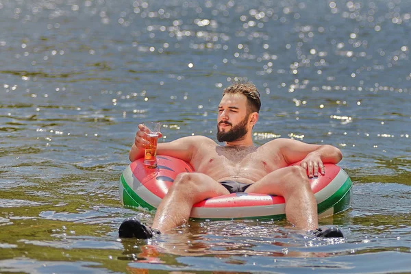
[{"label": "green outer rim of the watermelon-patterned inflatable ring", "polygon": [[[123,175],[121,175],[121,185],[123,186],[123,204],[127,208],[145,208],[146,210],[155,211],[157,208],[151,206],[151,204],[144,201],[139,197],[132,188],[127,184]],[[344,184],[336,191],[333,195],[325,199],[318,204],[318,212],[321,214],[329,209],[333,210],[333,214],[347,210],[351,203],[351,187],[353,183],[347,175],[347,179]],[[275,214],[268,216],[250,216],[250,217],[239,217],[232,219],[271,219],[271,220],[281,220],[285,219],[286,214]],[[227,218],[191,218],[191,219],[212,219],[212,220],[225,220]]]}]

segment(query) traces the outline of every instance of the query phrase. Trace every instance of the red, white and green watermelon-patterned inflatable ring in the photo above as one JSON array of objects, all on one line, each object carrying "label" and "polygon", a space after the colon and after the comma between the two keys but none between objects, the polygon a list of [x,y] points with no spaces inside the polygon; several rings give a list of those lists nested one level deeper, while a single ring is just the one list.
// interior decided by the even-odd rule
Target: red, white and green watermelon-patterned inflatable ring
[{"label": "red, white and green watermelon-patterned inflatable ring", "polygon": [[[158,156],[158,166],[149,169],[138,159],[121,175],[121,202],[127,208],[156,210],[177,174],[194,171],[190,164],[169,156]],[[351,205],[352,182],[339,166],[325,164],[325,175],[310,179],[319,216],[347,210]],[[285,200],[280,196],[238,192],[196,203],[191,218],[198,219],[284,219]]]}]

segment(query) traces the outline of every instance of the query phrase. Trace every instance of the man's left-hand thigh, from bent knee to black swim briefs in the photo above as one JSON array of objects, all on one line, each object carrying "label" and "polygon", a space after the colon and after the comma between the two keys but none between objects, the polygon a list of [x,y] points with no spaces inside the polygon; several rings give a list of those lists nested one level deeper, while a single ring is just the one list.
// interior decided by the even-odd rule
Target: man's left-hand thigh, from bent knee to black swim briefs
[{"label": "man's left-hand thigh, from bent knee to black swim briefs", "polygon": [[[229,191],[212,177],[203,173],[184,173],[173,184],[179,192],[185,192],[197,201],[229,194]],[[176,189],[176,190],[177,190]]]}]

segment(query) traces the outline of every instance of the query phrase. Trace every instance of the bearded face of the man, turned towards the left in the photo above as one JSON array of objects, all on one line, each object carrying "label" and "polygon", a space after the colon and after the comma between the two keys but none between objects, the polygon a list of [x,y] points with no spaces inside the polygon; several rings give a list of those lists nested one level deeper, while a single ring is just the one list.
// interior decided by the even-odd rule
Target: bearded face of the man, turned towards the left
[{"label": "bearded face of the man, turned towards the left", "polygon": [[233,142],[248,133],[249,114],[247,97],[242,94],[224,95],[219,104],[217,118],[217,140]]}]

